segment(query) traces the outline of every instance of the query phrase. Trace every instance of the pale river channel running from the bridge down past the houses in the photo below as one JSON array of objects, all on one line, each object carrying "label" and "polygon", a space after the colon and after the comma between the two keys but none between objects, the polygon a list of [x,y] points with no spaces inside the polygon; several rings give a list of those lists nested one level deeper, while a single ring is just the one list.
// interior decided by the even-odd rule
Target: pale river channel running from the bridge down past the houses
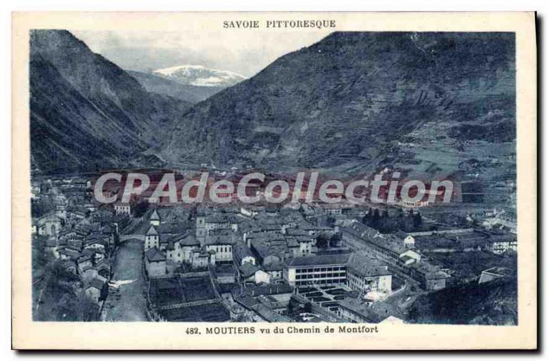
[{"label": "pale river channel running from the bridge down past the houses", "polygon": [[142,276],[142,240],[127,240],[116,251],[105,321],[147,321],[147,284]]}]

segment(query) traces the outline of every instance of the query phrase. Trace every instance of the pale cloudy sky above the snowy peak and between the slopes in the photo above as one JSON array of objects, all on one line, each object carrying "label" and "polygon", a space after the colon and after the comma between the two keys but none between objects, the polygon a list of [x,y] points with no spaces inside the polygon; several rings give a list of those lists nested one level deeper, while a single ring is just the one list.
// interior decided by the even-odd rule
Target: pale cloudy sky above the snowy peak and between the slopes
[{"label": "pale cloudy sky above the snowy peak and between the slopes", "polygon": [[122,69],[153,71],[184,64],[251,77],[280,56],[327,36],[311,32],[71,31],[95,53]]}]

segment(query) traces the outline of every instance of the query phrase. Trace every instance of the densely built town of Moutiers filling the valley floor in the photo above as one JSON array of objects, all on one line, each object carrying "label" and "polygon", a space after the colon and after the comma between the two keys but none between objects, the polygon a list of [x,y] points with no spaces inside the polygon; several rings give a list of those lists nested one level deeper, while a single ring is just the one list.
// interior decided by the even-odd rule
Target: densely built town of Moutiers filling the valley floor
[{"label": "densely built town of Moutiers filling the valley floor", "polygon": [[40,175],[32,236],[40,321],[428,323],[428,297],[516,278],[514,214],[465,201],[103,204]]}]

